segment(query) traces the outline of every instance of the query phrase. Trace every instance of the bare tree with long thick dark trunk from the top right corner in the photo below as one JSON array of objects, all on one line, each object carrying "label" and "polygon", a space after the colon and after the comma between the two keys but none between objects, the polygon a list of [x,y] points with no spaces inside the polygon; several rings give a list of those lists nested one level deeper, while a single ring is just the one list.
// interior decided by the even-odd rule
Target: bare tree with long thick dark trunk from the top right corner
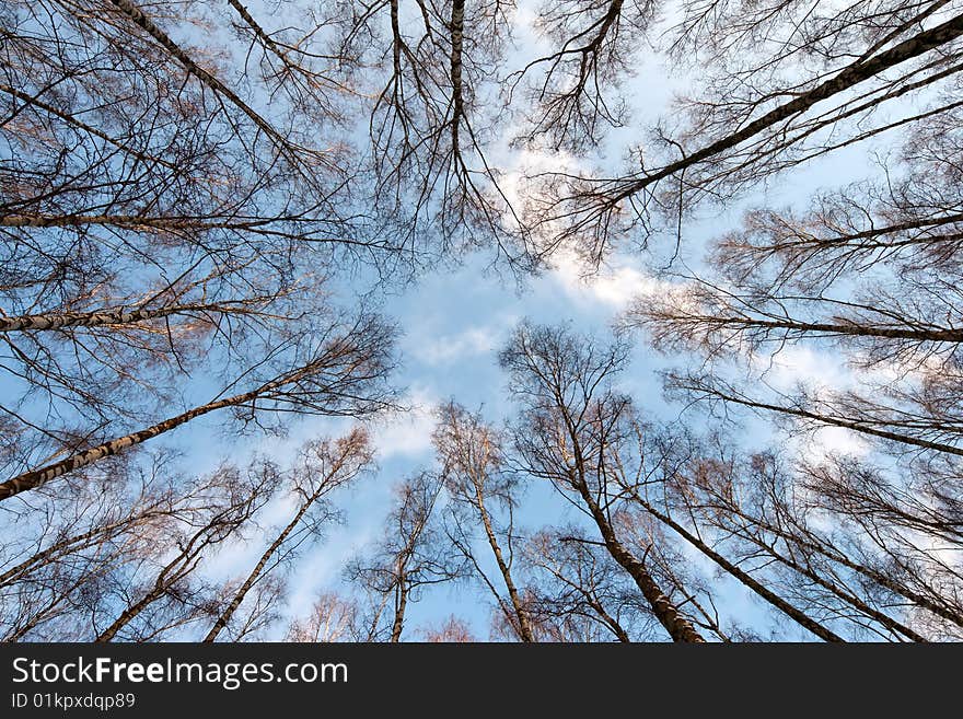
[{"label": "bare tree with long thick dark trunk from the top right corner", "polygon": [[[798,3],[785,2],[779,3],[780,9],[791,10],[785,15],[779,11],[751,13],[763,35],[778,37],[785,28],[801,37],[787,39],[785,45],[775,42],[771,48],[757,46],[752,57],[758,59],[745,71],[738,67],[738,53],[726,55],[736,67],[720,62],[721,80],[706,88],[705,96],[686,103],[688,126],[678,132],[654,129],[652,144],[665,150],[663,161],[653,163],[651,152],[639,147],[633,152],[639,169],[620,176],[556,171],[535,175],[533,181],[542,189],[532,204],[530,222],[546,230],[552,245],[575,244],[597,264],[626,229],[639,223],[647,230],[655,229],[653,216],[668,219],[681,233],[682,217],[703,198],[729,197],[814,156],[952,111],[955,102],[937,98],[925,112],[908,111],[898,120],[869,128],[856,121],[871,116],[881,105],[938,86],[963,68],[958,43],[963,18],[942,7],[948,3],[930,4],[931,13],[902,19],[893,32],[882,37],[877,34],[866,45],[846,37],[858,22],[844,20],[845,12],[828,21],[819,14],[793,18],[791,11]],[[734,18],[742,20],[738,14]],[[920,28],[921,20],[931,26]],[[826,23],[837,24],[828,35],[820,30],[820,24]],[[815,26],[810,28],[810,24]],[[739,39],[749,35],[744,33]],[[839,39],[839,47],[820,58],[823,68],[802,77],[793,72],[787,78],[778,72],[796,53],[819,54],[831,38]],[[892,78],[887,74],[891,71]]]}]

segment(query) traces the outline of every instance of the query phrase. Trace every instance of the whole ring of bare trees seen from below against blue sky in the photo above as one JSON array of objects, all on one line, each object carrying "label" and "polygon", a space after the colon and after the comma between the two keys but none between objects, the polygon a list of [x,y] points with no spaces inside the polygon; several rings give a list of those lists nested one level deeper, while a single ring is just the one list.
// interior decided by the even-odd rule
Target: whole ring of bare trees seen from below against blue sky
[{"label": "whole ring of bare trees seen from below against blue sky", "polygon": [[0,38],[2,640],[963,639],[963,2]]}]

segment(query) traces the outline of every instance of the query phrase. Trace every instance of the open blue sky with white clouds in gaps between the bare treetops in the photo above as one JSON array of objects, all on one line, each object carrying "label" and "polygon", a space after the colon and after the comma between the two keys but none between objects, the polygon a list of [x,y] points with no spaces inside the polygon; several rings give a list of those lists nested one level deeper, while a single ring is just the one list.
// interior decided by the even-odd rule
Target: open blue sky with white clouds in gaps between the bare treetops
[{"label": "open blue sky with white clouds in gaps between the bare treetops", "polygon": [[[255,16],[281,22],[260,4],[251,4]],[[517,13],[518,49],[507,62],[513,67],[519,66],[520,57],[532,56],[545,48],[544,42],[534,36],[529,27],[531,7],[532,3],[523,2]],[[293,12],[293,8],[289,13]],[[268,20],[264,22],[270,25]],[[631,98],[634,105],[629,126],[611,132],[595,159],[596,163],[601,162],[613,171],[620,166],[626,147],[639,139],[639,128],[666,112],[672,89],[685,84],[684,78],[669,77],[668,68],[659,56],[650,55],[640,60],[636,76],[626,82],[625,88],[625,95]],[[883,143],[887,141],[889,138],[881,140]],[[776,179],[738,204],[704,208],[701,216],[685,224],[677,267],[698,267],[706,242],[732,228],[749,206],[763,202],[775,206],[804,204],[816,189],[838,187],[862,178],[869,171],[872,150],[872,144],[848,148],[793,171],[791,184]],[[512,172],[523,165],[557,167],[573,162],[559,153],[522,153],[511,150],[507,143],[495,151],[495,160],[499,166],[508,170],[509,185]],[[526,280],[521,288],[511,277],[488,271],[490,258],[480,253],[468,257],[456,269],[428,272],[417,282],[384,297],[380,309],[403,328],[399,341],[401,370],[395,380],[398,385],[406,387],[405,402],[410,409],[373,424],[380,468],[375,475],[363,478],[334,498],[345,510],[346,523],[333,527],[323,543],[301,557],[292,572],[291,595],[286,612],[292,616],[303,614],[316,591],[344,589],[340,585],[341,566],[378,535],[393,484],[418,468],[431,465],[433,453],[430,434],[436,405],[454,398],[471,409],[483,409],[490,420],[499,421],[511,415],[512,407],[507,404],[504,376],[498,369],[497,353],[521,320],[547,324],[570,323],[576,330],[590,330],[604,336],[637,292],[666,281],[657,279],[653,268],[663,266],[670,251],[671,244],[663,237],[655,243],[654,255],[643,255],[636,251],[630,237],[606,266],[589,277],[583,277],[587,268],[581,267],[573,257],[560,253],[550,269],[541,277]],[[637,343],[631,368],[620,385],[649,416],[671,419],[678,413],[678,407],[665,403],[657,374],[660,369],[673,363],[673,358],[655,355],[648,349],[641,338]],[[784,389],[799,380],[822,380],[838,385],[845,383],[846,378],[846,368],[839,366],[832,352],[817,345],[788,348],[767,374],[769,382]],[[0,392],[3,392],[3,382],[0,380]],[[222,424],[227,419],[224,414],[204,417],[192,422],[189,429],[181,428],[158,443],[170,442],[184,449],[187,451],[184,465],[202,473],[225,457],[243,463],[245,455],[254,452],[266,452],[282,459],[302,441],[323,434],[337,434],[345,431],[349,424],[340,419],[305,418],[294,421],[285,438],[251,434],[235,441],[222,431]],[[770,436],[768,425],[762,420],[750,419],[747,427],[750,431],[746,436],[761,444]],[[824,447],[858,449],[858,442],[845,430],[823,430],[817,442]],[[819,448],[813,450],[810,447],[805,451],[819,451]],[[287,509],[283,501],[270,509],[263,520],[267,536],[271,535],[270,519],[283,521]],[[557,523],[571,517],[570,512],[547,487],[534,486],[525,495],[520,515],[525,529],[538,529],[542,524]],[[218,561],[212,563],[209,571],[212,576],[225,578],[245,573],[253,566],[253,558],[259,554],[263,541],[264,536],[253,536],[246,545],[230,548]],[[701,557],[693,555],[691,558],[705,567]],[[758,616],[758,606],[741,590],[728,583],[720,585],[724,587],[728,614],[740,617],[742,624],[752,624],[745,617]],[[452,613],[468,619],[479,638],[487,638],[487,602],[479,602],[479,596],[483,596],[480,589],[465,584],[429,592],[411,610],[407,638],[417,638],[414,630],[429,618],[439,623]],[[282,626],[275,637],[279,634],[283,634]],[[804,637],[799,634],[788,638]]]}]

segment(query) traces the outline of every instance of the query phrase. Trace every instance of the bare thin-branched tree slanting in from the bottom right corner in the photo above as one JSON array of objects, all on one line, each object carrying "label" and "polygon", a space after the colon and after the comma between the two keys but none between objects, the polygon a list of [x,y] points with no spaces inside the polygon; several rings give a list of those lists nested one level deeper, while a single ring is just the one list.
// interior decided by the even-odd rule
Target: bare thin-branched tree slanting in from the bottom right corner
[{"label": "bare thin-branched tree slanting in from the bottom right corner", "polygon": [[[758,582],[782,585],[819,614],[843,619],[878,638],[927,640],[928,630],[914,628],[917,622],[908,611],[914,604],[935,608],[938,616],[952,622],[950,585],[931,582],[924,590],[930,598],[914,589],[926,583],[926,565],[939,573],[938,553],[926,559],[930,549],[912,542],[866,542],[856,530],[855,514],[837,506],[834,522],[821,519],[828,509],[819,499],[821,490],[809,485],[812,499],[802,499],[794,495],[794,483],[771,456],[755,455],[745,463],[699,459],[674,475],[669,491],[672,507],[666,511],[686,517],[695,523],[695,532],[719,537],[726,550],[734,553],[732,561],[780,568],[779,576],[757,577]],[[642,503],[651,508],[650,502]],[[678,523],[671,517],[662,519],[670,520],[670,526]],[[871,520],[877,531],[885,537],[894,532],[898,536],[900,527],[882,529],[881,519]]]}]

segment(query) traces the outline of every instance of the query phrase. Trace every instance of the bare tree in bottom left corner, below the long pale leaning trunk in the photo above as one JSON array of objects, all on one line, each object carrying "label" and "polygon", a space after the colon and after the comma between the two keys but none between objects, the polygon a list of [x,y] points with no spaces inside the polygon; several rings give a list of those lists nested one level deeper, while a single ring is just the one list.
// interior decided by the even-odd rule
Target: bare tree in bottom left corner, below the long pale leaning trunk
[{"label": "bare tree in bottom left corner, below the long pale leaning trunk", "polygon": [[170,452],[113,457],[7,510],[21,527],[0,571],[8,639],[90,640],[91,619],[116,611],[113,598],[131,572],[160,561],[169,540],[217,511],[223,477],[188,478],[173,466]]}]

